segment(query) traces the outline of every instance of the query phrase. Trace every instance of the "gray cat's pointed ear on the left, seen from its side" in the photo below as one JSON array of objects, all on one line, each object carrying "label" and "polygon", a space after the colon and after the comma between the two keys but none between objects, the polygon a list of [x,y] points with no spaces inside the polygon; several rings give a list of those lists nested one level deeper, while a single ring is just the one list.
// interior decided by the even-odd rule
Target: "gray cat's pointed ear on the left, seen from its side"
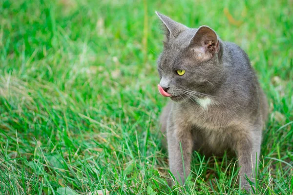
[{"label": "gray cat's pointed ear on the left, seen from its side", "polygon": [[171,38],[176,38],[186,28],[185,25],[180,24],[157,11],[156,14],[163,22],[163,28],[166,36],[165,41]]}]

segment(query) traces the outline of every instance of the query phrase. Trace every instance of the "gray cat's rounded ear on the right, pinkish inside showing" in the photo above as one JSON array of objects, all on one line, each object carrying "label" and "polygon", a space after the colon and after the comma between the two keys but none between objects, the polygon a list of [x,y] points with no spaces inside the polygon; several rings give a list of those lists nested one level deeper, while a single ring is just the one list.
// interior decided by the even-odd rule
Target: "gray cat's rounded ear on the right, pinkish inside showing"
[{"label": "gray cat's rounded ear on the right, pinkish inside showing", "polygon": [[220,50],[219,40],[216,32],[208,26],[201,26],[190,40],[189,47],[198,59],[211,59]]}]

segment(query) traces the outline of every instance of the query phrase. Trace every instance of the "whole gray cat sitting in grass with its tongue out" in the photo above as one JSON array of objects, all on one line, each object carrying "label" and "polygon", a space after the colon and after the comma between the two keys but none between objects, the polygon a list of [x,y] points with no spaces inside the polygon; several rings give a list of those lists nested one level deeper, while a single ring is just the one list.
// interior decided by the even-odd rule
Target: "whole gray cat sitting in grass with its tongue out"
[{"label": "whole gray cat sitting in grass with its tongue out", "polygon": [[158,88],[172,100],[161,116],[170,171],[184,183],[193,150],[207,156],[232,151],[241,186],[250,189],[246,176],[254,180],[268,105],[247,54],[208,26],[188,28],[156,14],[166,35]]}]

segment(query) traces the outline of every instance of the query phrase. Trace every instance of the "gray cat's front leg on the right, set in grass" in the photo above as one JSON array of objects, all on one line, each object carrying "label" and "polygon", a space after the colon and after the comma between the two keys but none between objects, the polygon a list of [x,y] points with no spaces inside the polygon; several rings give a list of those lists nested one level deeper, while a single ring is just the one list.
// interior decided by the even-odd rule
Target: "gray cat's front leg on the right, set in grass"
[{"label": "gray cat's front leg on the right, set in grass", "polygon": [[250,191],[251,186],[247,177],[255,182],[255,170],[260,153],[261,128],[257,131],[243,133],[237,137],[236,151],[238,155],[238,164],[240,166],[240,178],[242,188]]}]

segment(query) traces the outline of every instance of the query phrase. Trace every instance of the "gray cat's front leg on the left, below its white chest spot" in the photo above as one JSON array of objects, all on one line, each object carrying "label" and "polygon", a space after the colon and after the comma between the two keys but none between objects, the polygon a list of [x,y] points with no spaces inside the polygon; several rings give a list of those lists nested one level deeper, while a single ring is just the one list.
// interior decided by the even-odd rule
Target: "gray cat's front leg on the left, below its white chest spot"
[{"label": "gray cat's front leg on the left, below its white chest spot", "polygon": [[191,129],[186,125],[176,125],[170,122],[167,127],[167,142],[170,171],[183,185],[190,173],[193,148]]}]

